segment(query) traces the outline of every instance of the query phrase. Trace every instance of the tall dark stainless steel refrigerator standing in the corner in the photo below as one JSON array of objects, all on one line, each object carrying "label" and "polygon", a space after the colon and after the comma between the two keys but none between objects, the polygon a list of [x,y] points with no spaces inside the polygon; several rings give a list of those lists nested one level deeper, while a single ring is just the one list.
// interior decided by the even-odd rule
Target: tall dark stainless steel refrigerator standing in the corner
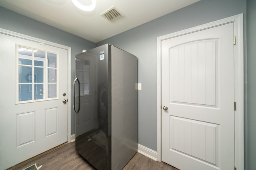
[{"label": "tall dark stainless steel refrigerator standing in the corner", "polygon": [[76,55],[76,151],[121,170],[138,150],[137,57],[106,44]]}]

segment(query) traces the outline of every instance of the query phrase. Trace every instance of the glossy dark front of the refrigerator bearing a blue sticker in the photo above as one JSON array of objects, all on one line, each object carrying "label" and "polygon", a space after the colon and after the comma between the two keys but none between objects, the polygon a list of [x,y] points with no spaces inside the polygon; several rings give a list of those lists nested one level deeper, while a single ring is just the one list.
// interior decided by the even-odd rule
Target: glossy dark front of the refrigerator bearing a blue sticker
[{"label": "glossy dark front of the refrigerator bearing a blue sticker", "polygon": [[[109,167],[109,45],[76,55],[80,81],[80,111],[76,114],[76,151],[98,170]],[[78,84],[76,83],[78,108]]]}]

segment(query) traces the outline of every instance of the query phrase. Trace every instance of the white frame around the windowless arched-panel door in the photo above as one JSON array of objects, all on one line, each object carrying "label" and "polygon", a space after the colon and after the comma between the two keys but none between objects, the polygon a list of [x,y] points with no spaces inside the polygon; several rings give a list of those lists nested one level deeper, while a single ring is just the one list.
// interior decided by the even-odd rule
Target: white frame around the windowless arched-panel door
[{"label": "white frame around the windowless arched-panel door", "polygon": [[234,46],[234,100],[236,111],[234,112],[235,124],[235,167],[237,170],[244,170],[244,40],[243,40],[243,14],[213,21],[168,35],[157,37],[157,160],[162,161],[162,122],[161,122],[161,41],[200,31],[225,23],[234,23],[234,36],[236,45]]}]

